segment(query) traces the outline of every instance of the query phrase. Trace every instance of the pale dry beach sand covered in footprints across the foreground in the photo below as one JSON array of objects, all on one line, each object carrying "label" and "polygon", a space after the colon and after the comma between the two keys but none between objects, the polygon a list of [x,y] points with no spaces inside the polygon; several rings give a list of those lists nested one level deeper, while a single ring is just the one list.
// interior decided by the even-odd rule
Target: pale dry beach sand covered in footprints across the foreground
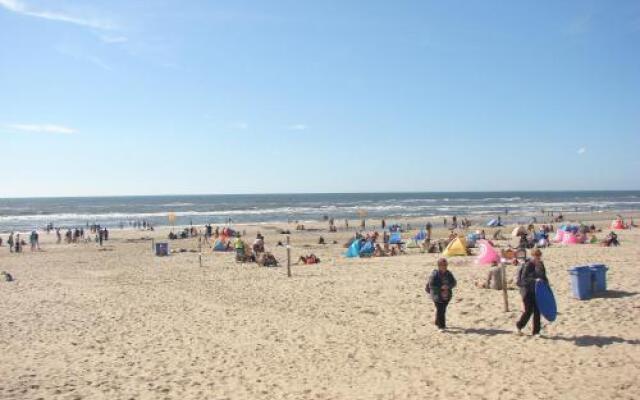
[{"label": "pale dry beach sand covered in footprints across the foreground", "polygon": [[[259,229],[284,260],[284,236]],[[293,256],[322,263],[292,278],[231,253],[206,251],[200,268],[196,253],[127,242],[165,230],[114,230],[103,249],[53,234],[42,252],[1,247],[16,280],[0,282],[0,398],[640,398],[640,230],[621,232],[619,248],[544,251],[560,315],[540,338],[513,333],[516,291],[503,312],[501,292],[474,287],[485,270],[472,257],[451,260],[459,285],[440,333],[424,293],[436,255],[345,259],[341,245],[314,244],[320,234],[349,235],[294,231]],[[610,267],[610,291],[573,299],[566,269],[594,262]]]}]

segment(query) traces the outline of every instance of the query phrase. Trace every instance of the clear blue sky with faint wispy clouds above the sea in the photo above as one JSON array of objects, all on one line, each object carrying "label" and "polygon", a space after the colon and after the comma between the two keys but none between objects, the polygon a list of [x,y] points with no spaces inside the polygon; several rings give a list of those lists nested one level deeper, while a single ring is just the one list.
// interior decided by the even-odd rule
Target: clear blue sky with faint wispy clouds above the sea
[{"label": "clear blue sky with faint wispy clouds above the sea", "polygon": [[640,189],[638,1],[0,0],[0,197]]}]

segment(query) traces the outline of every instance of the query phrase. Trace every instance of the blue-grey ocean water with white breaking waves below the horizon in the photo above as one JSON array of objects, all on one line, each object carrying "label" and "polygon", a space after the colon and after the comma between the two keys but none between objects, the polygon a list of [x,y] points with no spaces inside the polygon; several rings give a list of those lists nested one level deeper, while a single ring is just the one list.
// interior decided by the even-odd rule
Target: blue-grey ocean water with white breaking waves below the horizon
[{"label": "blue-grey ocean water with white breaking waves below the horizon", "polygon": [[74,227],[99,223],[117,227],[145,219],[168,225],[232,222],[320,220],[368,217],[428,217],[459,215],[490,219],[497,215],[541,215],[564,212],[640,210],[640,191],[580,192],[455,192],[455,193],[332,193],[263,195],[189,195],[0,199],[0,231],[31,230],[48,223]]}]

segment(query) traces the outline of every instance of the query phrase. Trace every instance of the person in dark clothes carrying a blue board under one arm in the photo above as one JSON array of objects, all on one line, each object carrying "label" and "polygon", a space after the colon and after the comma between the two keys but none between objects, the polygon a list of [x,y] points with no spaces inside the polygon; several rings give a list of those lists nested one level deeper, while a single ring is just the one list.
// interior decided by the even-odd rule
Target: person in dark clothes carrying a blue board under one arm
[{"label": "person in dark clothes carrying a blue board under one arm", "polygon": [[524,304],[524,311],[520,316],[520,319],[516,323],[518,328],[518,334],[522,334],[522,329],[527,325],[531,315],[533,314],[533,335],[540,334],[540,310],[536,304],[536,281],[543,280],[549,282],[547,279],[547,272],[542,262],[542,251],[535,249],[532,253],[532,258],[528,260],[518,271],[518,287],[520,288],[520,295],[522,296],[522,302]]}]

